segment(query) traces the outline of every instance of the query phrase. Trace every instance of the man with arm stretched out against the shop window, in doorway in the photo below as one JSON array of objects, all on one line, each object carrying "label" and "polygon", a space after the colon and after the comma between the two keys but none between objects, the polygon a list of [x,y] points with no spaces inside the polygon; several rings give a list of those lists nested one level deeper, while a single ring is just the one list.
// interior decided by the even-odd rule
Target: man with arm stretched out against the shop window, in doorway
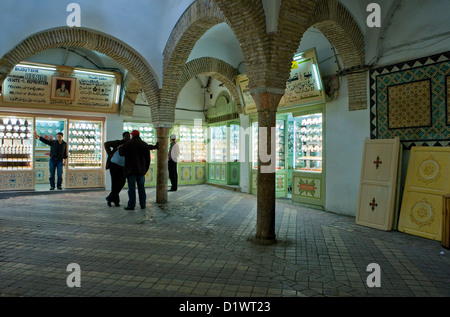
[{"label": "man with arm stretched out against the shop window, in doorway", "polygon": [[63,166],[66,166],[66,160],[68,158],[67,143],[64,141],[64,134],[59,132],[56,135],[56,140],[47,140],[42,136],[39,136],[34,132],[36,139],[39,139],[42,143],[50,145],[50,190],[55,190],[55,170],[57,171],[57,187],[62,190],[62,174]]}]

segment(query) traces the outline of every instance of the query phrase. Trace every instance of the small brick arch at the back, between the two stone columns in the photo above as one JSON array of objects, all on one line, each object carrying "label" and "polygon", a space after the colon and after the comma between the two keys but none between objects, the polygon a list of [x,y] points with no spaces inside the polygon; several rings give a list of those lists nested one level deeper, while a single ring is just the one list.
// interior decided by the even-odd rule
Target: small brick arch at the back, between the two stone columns
[{"label": "small brick arch at the back, between the two stone columns", "polygon": [[213,77],[223,83],[228,91],[230,91],[231,96],[236,101],[238,112],[243,113],[238,89],[235,84],[236,76],[238,74],[239,72],[237,69],[220,59],[202,57],[194,59],[186,64],[180,77],[179,87],[182,89],[187,82],[196,75],[207,75]]}]

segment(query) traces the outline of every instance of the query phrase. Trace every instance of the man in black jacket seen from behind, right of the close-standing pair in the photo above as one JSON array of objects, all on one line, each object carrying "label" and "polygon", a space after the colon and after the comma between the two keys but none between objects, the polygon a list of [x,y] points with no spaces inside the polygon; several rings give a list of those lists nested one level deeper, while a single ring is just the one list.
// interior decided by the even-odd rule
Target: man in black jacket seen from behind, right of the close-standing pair
[{"label": "man in black jacket seen from behind, right of the close-standing pair", "polygon": [[150,149],[142,141],[137,130],[131,132],[132,139],[119,146],[119,154],[125,157],[125,175],[128,181],[128,205],[125,210],[134,210],[136,206],[136,183],[141,209],[145,209],[145,174],[150,168]]}]

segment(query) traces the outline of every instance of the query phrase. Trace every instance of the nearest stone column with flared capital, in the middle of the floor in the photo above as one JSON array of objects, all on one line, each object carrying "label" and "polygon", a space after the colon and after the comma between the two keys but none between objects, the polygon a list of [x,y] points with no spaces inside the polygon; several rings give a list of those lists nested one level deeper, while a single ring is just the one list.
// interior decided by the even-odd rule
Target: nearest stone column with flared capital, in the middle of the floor
[{"label": "nearest stone column with flared capital, in the middle of the floor", "polygon": [[[258,106],[258,135],[266,128],[267,138],[259,139],[258,153],[258,193],[257,223],[255,242],[261,244],[276,243],[275,235],[275,167],[276,148],[272,148],[272,128],[276,128],[277,107],[284,92],[276,89],[252,89],[252,96]],[[263,142],[263,143],[261,143]],[[270,161],[261,160],[262,155],[270,155]],[[264,162],[266,161],[266,162]]]}]

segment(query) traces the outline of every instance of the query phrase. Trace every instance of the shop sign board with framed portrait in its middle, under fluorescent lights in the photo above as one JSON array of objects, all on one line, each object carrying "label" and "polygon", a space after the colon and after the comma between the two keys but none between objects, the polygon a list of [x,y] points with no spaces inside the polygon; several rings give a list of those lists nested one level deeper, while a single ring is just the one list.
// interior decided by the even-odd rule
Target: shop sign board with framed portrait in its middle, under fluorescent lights
[{"label": "shop sign board with framed portrait in its middle, under fluorescent lights", "polygon": [[115,113],[120,80],[118,73],[21,63],[3,82],[0,106]]}]

